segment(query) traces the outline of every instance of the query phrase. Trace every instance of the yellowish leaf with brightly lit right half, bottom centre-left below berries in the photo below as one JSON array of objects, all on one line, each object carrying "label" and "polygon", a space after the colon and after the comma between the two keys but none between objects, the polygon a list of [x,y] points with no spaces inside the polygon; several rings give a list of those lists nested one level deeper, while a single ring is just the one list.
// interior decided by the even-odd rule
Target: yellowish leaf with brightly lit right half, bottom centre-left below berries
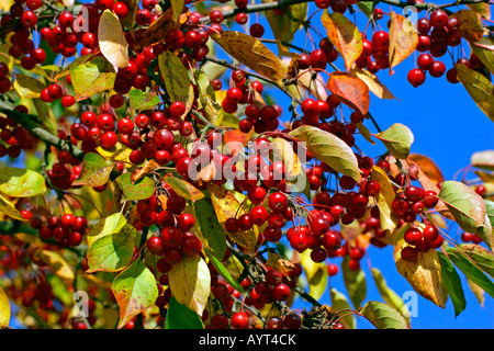
[{"label": "yellowish leaf with brightly lit right half, bottom centre-left below berries", "polygon": [[168,272],[169,286],[177,302],[202,316],[211,293],[210,269],[199,256],[183,257]]}]

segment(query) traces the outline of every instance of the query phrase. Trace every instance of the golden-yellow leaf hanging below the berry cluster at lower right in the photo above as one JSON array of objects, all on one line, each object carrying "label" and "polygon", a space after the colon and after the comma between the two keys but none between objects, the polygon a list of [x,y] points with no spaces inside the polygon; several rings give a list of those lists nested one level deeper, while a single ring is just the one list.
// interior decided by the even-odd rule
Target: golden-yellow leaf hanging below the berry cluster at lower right
[{"label": "golden-yellow leaf hanging below the berry cluster at lower right", "polygon": [[[404,241],[403,241],[404,242]],[[423,297],[445,308],[446,301],[441,290],[441,268],[436,250],[418,253],[417,262],[405,261],[401,252],[406,244],[397,245],[394,251],[396,269],[412,287]]]}]

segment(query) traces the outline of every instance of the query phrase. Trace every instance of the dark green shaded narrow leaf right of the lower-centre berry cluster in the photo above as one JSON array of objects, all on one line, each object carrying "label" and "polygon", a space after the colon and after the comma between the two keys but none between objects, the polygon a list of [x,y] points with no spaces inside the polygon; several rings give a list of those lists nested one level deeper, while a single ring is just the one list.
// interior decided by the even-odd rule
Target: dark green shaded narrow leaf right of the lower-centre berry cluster
[{"label": "dark green shaded narrow leaf right of the lower-centre berry cluster", "polygon": [[226,235],[213,205],[203,199],[193,204],[193,212],[197,218],[194,228],[199,229],[197,231],[201,235],[201,241],[218,261],[222,261],[226,251]]}]

